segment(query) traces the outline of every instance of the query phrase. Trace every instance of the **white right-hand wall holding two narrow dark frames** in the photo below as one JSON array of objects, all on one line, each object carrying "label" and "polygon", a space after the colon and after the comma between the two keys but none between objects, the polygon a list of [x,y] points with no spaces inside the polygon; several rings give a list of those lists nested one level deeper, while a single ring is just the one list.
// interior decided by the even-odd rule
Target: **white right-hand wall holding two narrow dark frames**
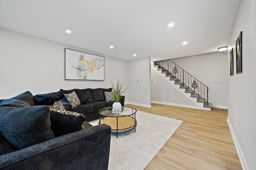
[{"label": "white right-hand wall holding two narrow dark frames", "polygon": [[[244,169],[256,169],[256,17],[255,0],[241,0],[228,43],[234,76],[228,76],[228,122]],[[242,68],[236,74],[236,39],[242,33]],[[228,57],[228,61],[230,59]],[[228,64],[227,64],[228,66]],[[238,123],[237,127],[234,121]]]}]

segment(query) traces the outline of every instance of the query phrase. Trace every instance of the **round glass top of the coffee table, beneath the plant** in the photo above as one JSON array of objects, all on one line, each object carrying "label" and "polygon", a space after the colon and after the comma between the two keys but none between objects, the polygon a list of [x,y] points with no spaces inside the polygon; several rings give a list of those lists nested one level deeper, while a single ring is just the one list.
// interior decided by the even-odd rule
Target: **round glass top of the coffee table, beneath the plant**
[{"label": "round glass top of the coffee table, beneath the plant", "polygon": [[137,112],[137,110],[133,107],[128,107],[128,106],[122,106],[122,111],[118,111],[118,113],[113,112],[112,113],[112,107],[104,107],[103,109],[100,109],[99,113],[102,116],[107,116],[107,117],[125,117],[125,116],[130,116],[134,115]]}]

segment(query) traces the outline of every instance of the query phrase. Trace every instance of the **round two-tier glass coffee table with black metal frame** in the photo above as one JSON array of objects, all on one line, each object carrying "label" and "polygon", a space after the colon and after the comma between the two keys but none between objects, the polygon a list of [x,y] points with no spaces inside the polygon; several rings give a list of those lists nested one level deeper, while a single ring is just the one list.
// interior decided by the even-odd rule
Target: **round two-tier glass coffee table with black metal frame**
[{"label": "round two-tier glass coffee table with black metal frame", "polygon": [[134,129],[136,132],[136,115],[137,110],[133,107],[122,106],[122,111],[112,111],[112,107],[104,107],[100,109],[99,124],[106,124],[111,127],[111,133],[124,133]]}]

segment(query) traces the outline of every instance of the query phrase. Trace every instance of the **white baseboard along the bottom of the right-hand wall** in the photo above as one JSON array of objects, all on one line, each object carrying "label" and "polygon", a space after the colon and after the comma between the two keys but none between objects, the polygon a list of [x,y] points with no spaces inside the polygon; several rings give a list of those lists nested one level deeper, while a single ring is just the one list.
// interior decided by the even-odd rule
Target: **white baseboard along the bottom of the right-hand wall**
[{"label": "white baseboard along the bottom of the right-hand wall", "polygon": [[236,134],[234,132],[234,129],[232,127],[232,124],[229,120],[229,118],[227,118],[227,122],[228,122],[228,127],[230,129],[230,132],[231,132],[231,135],[232,135],[232,138],[233,138],[233,141],[234,141],[234,144],[235,144],[235,147],[236,147],[236,152],[238,154],[238,157],[240,159],[240,162],[241,162],[241,165],[242,165],[242,168],[243,170],[249,170],[249,167],[248,167],[248,164],[246,163],[246,159],[244,157],[244,154],[242,152],[242,149],[238,143],[238,140],[236,139]]}]

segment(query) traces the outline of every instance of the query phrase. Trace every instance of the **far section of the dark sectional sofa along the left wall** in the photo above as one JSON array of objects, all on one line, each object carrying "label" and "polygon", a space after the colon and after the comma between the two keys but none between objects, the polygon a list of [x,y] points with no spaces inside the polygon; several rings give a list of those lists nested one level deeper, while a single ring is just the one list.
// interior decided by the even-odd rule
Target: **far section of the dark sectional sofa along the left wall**
[{"label": "far section of the dark sectional sofa along the left wall", "polygon": [[[72,108],[71,104],[68,103],[65,99],[60,100],[68,111],[76,111],[85,116],[85,121],[92,121],[99,119],[98,111],[104,107],[112,106],[114,102],[106,102],[104,92],[110,92],[112,88],[96,88],[96,89],[72,89],[72,90],[63,90],[60,89],[60,92],[64,94],[70,94],[76,92],[81,105]],[[120,100],[122,106],[124,106],[124,96]]]}]

